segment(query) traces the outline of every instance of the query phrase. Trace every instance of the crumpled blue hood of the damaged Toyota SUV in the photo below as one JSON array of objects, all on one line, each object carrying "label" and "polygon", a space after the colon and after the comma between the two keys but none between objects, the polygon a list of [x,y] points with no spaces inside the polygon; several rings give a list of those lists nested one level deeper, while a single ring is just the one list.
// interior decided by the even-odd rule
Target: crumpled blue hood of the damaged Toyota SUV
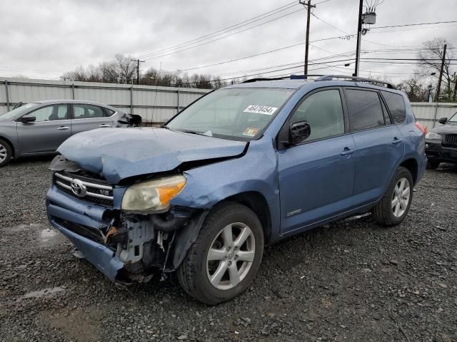
[{"label": "crumpled blue hood of the damaged Toyota SUV", "polygon": [[99,128],[73,135],[58,152],[111,184],[173,170],[183,162],[241,155],[246,142],[165,128]]}]

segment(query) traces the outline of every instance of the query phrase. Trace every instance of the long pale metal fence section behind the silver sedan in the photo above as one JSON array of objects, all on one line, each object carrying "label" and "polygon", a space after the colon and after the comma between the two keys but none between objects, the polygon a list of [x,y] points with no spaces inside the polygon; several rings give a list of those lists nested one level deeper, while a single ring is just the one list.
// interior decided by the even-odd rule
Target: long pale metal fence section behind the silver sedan
[{"label": "long pale metal fence section behind the silver sedan", "polygon": [[44,81],[0,78],[0,115],[16,103],[37,100],[91,100],[126,113],[141,115],[145,123],[163,123],[208,89],[136,86],[113,83]]}]

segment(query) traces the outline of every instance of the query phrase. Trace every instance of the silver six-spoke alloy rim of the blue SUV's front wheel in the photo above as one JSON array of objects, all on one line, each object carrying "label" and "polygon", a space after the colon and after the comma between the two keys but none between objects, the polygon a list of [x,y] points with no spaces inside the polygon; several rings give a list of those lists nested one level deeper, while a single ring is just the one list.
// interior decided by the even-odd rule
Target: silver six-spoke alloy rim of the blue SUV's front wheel
[{"label": "silver six-spoke alloy rim of the blue SUV's front wheel", "polygon": [[227,225],[213,240],[206,257],[206,274],[219,290],[232,289],[251,269],[256,254],[254,234],[246,224]]}]

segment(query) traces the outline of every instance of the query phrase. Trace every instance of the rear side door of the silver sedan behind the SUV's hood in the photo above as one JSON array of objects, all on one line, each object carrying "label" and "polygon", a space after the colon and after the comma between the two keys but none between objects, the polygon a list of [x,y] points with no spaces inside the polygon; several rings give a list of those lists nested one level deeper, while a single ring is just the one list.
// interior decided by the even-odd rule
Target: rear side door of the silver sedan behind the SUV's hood
[{"label": "rear side door of the silver sedan behind the SUV's hood", "polygon": [[71,134],[113,126],[113,120],[109,118],[108,111],[104,110],[103,107],[85,103],[73,103],[71,108]]}]

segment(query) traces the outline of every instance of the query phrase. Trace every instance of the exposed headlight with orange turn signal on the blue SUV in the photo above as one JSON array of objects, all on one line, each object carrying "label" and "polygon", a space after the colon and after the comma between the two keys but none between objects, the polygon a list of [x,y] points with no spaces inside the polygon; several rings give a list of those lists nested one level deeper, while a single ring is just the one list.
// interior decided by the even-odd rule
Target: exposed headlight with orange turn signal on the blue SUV
[{"label": "exposed headlight with orange turn signal on the blue SUV", "polygon": [[186,185],[186,177],[173,176],[141,182],[128,187],[122,198],[126,212],[160,212],[169,208],[173,197]]}]

